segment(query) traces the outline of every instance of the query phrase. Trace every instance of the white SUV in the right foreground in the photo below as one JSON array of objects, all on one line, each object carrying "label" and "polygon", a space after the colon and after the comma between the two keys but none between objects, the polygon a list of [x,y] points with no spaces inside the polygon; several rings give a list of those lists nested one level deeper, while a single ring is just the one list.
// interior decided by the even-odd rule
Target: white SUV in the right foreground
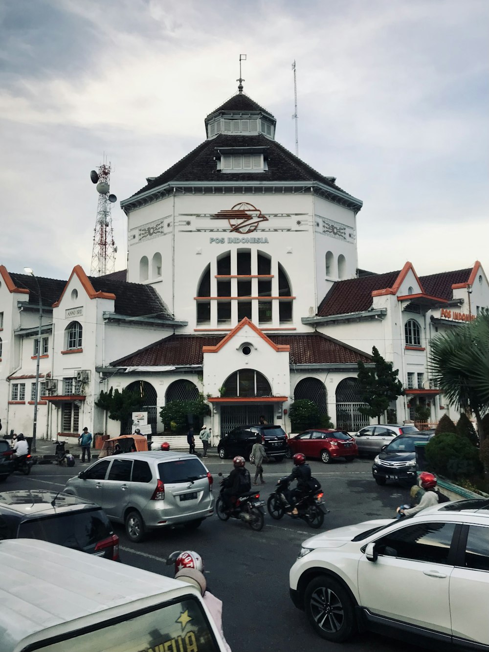
[{"label": "white SUV in the right foreground", "polygon": [[374,630],[489,651],[489,500],[316,535],[289,580],[295,606],[329,641]]}]

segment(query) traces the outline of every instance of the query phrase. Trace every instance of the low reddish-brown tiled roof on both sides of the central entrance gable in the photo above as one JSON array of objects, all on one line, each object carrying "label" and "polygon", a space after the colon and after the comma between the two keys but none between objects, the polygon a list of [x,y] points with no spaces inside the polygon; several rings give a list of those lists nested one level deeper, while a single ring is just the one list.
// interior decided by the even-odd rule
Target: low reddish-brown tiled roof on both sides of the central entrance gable
[{"label": "low reddish-brown tiled roof on both sides of the central entrance gable", "polygon": [[[216,346],[224,336],[170,335],[121,358],[111,366],[164,366],[203,363],[203,346]],[[269,335],[275,344],[289,344],[291,364],[344,364],[370,356],[321,333]]]}]

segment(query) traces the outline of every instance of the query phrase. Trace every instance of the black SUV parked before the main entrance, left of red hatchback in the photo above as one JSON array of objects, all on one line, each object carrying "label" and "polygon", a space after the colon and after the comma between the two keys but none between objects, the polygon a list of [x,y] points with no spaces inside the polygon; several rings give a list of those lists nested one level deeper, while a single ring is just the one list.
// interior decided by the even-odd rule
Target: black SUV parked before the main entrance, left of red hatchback
[{"label": "black SUV parked before the main entrance, left of red hatchback", "polygon": [[221,460],[235,455],[243,455],[245,460],[253,461],[251,449],[256,436],[261,436],[261,443],[268,457],[277,462],[283,460],[287,453],[287,435],[282,426],[240,426],[222,437],[217,445]]}]

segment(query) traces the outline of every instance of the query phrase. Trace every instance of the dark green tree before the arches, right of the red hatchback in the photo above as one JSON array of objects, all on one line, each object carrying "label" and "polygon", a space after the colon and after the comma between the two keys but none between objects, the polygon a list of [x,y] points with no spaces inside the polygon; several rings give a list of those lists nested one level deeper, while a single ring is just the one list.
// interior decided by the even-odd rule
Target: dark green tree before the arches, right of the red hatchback
[{"label": "dark green tree before the arches, right of the red hatchback", "polygon": [[367,417],[377,417],[380,423],[383,413],[402,394],[402,383],[397,377],[399,370],[393,370],[392,363],[385,361],[375,346],[372,362],[373,368],[367,368],[361,360],[357,363],[361,398],[368,405],[360,411]]}]

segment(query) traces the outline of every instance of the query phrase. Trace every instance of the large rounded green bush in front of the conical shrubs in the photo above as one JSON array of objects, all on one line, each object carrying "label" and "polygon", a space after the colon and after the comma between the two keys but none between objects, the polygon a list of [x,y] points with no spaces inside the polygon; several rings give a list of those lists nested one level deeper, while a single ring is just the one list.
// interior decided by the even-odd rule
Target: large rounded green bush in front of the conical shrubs
[{"label": "large rounded green bush in front of the conical shrubs", "polygon": [[426,445],[426,462],[432,473],[449,480],[481,477],[479,451],[467,437],[455,432],[441,432]]}]

